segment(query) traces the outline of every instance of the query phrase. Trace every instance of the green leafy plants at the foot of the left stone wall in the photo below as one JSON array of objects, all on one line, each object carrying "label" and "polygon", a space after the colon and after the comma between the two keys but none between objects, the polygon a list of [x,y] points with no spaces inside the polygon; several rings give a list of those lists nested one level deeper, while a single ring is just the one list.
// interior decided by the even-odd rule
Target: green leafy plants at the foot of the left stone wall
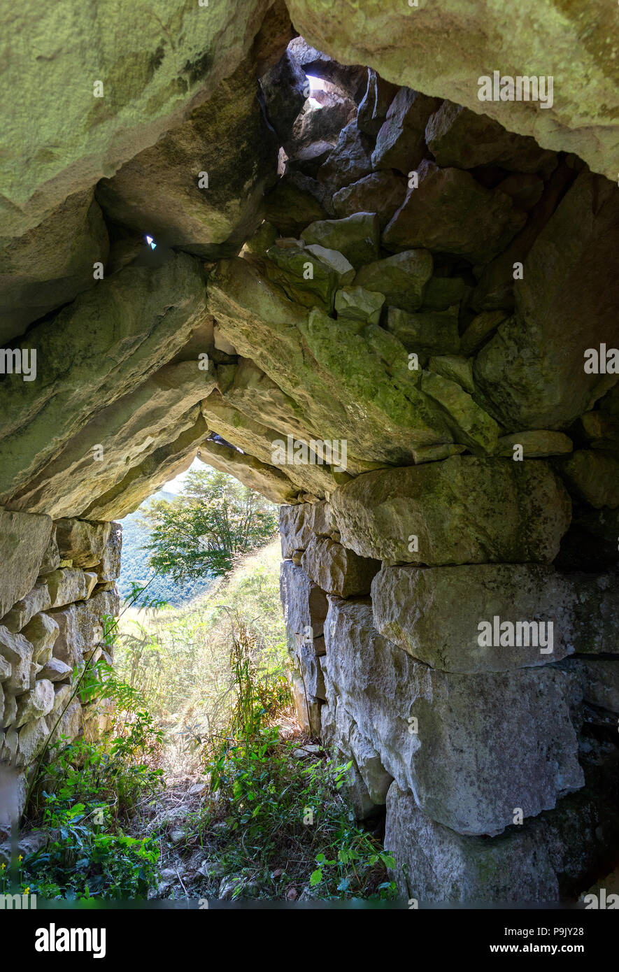
[{"label": "green leafy plants at the foot of the left stone wall", "polygon": [[[113,638],[110,631],[108,642]],[[28,816],[47,837],[25,857],[20,880],[30,893],[67,900],[146,897],[157,880],[152,837],[125,832],[141,802],[163,787],[162,733],[134,688],[103,660],[83,679],[82,702],[115,703],[100,743],[84,739],[50,747]]]}]

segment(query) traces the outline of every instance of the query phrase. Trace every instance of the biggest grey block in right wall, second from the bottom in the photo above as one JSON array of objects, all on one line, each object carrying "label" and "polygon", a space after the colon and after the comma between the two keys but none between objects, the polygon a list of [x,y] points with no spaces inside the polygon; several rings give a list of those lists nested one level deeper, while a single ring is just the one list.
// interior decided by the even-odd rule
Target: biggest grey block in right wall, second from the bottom
[{"label": "biggest grey block in right wall, second from the bottom", "polygon": [[[581,689],[555,666],[461,675],[413,661],[372,609],[331,598],[327,701],[343,709],[402,789],[461,834],[497,834],[583,785]],[[474,700],[474,702],[471,702]]]}]

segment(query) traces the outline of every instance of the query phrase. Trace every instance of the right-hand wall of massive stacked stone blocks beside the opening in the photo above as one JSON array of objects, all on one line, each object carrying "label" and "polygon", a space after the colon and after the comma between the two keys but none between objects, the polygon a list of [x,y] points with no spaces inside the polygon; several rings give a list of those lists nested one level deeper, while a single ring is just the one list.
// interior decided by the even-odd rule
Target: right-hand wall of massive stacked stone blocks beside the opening
[{"label": "right-hand wall of massive stacked stone blocks beside the opening", "polygon": [[[444,465],[479,475],[466,463]],[[513,475],[509,460],[487,466],[497,484]],[[416,518],[438,511],[430,499],[421,512],[412,502],[426,470],[368,473],[330,503],[281,507],[299,722],[352,760],[358,816],[386,806],[386,846],[406,896],[574,895],[619,851],[616,577],[549,563],[567,523],[548,516],[547,500],[528,519],[534,547],[510,537],[516,521],[500,493],[494,517],[461,504],[450,510],[460,513],[458,534],[434,534],[431,558],[423,547],[407,554]],[[563,493],[545,462],[523,470]],[[510,543],[512,563],[463,563],[465,544],[454,553],[482,512],[489,549]],[[496,616],[552,622],[551,650],[480,645],[479,622]]]}]

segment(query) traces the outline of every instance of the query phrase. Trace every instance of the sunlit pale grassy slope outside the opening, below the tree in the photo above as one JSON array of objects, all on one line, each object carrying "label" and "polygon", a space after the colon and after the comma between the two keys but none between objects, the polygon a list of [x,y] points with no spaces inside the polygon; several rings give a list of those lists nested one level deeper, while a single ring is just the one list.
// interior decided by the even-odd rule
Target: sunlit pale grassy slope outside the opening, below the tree
[{"label": "sunlit pale grassy slope outside the opening, below the tree", "polygon": [[[114,667],[170,727],[179,756],[224,732],[234,704],[229,656],[231,628],[250,633],[261,671],[285,674],[286,630],[279,593],[279,541],[248,555],[189,606],[136,611],[120,618]],[[174,729],[171,723],[175,723]]]}]

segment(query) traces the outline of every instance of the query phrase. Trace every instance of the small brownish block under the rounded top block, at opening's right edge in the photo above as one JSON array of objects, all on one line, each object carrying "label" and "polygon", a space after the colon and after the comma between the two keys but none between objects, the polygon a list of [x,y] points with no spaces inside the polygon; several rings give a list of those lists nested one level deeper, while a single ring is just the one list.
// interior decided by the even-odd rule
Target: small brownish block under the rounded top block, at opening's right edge
[{"label": "small brownish block under the rounded top block, at opening's right edge", "polygon": [[347,598],[369,593],[372,577],[380,564],[358,556],[341,543],[314,537],[301,558],[301,567],[327,594]]}]

